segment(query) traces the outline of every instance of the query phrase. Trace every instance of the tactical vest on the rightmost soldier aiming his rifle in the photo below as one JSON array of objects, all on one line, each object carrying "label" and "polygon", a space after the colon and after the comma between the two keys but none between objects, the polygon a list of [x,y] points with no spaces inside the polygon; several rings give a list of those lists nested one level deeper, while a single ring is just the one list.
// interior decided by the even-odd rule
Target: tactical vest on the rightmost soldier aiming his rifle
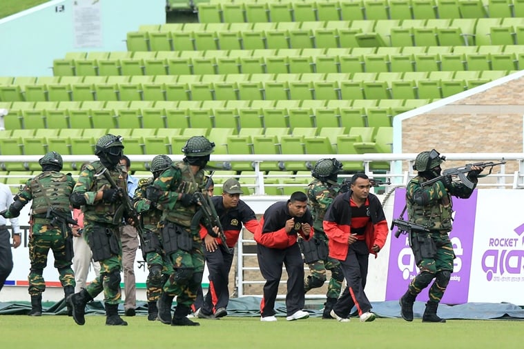
[{"label": "tactical vest on the rightmost soldier aiming his rifle", "polygon": [[[419,179],[413,181],[420,182]],[[440,199],[438,203],[426,206],[411,202],[407,207],[409,221],[427,226],[430,230],[452,230],[452,197],[447,195],[447,201],[446,205]]]}]

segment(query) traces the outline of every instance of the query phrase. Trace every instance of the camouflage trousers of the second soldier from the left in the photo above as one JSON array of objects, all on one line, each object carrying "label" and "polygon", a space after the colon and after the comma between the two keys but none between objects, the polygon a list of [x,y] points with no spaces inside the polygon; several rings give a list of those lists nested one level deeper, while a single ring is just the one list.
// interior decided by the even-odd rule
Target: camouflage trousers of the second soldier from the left
[{"label": "camouflage trousers of the second soldier from the left", "polygon": [[[89,239],[93,233],[93,225],[84,226],[84,235],[89,244]],[[113,234],[118,233],[118,228],[113,229]],[[120,272],[122,272],[122,243],[118,239],[119,252],[107,259],[102,259],[100,263],[100,274],[91,281],[86,287],[86,291],[93,298],[104,291],[104,303],[118,304],[122,299],[122,289],[120,288]]]}]

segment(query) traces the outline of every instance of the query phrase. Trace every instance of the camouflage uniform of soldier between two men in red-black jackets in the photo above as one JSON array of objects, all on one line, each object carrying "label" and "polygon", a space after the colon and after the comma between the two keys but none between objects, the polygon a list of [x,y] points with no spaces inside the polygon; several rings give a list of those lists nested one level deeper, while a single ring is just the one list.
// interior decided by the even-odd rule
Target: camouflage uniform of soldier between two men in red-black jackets
[{"label": "camouflage uniform of soldier between two men in red-black jackets", "polygon": [[[307,197],[309,199],[309,206],[311,215],[313,215],[313,228],[315,234],[313,239],[316,240],[317,244],[323,244],[327,250],[327,236],[324,232],[322,223],[324,221],[324,215],[327,208],[331,205],[333,199],[338,195],[337,189],[329,189],[329,186],[322,181],[315,179],[309,183],[307,188]],[[326,270],[331,271],[331,279],[327,288],[327,298],[337,299],[340,295],[340,289],[342,288],[342,281],[344,276],[340,270],[340,261],[333,259],[325,255],[324,258],[309,263],[309,275],[304,282],[304,290],[308,292],[311,288],[321,287],[326,281]]]}]

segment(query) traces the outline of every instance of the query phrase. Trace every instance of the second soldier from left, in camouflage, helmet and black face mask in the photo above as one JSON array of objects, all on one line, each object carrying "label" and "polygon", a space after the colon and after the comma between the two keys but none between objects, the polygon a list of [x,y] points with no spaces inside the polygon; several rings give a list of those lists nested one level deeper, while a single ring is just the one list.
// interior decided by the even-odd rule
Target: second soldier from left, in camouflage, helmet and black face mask
[{"label": "second soldier from left, in camouflage, helmet and black face mask", "polygon": [[[119,163],[124,145],[122,137],[106,134],[97,141],[93,161],[82,170],[70,201],[84,212],[84,237],[93,251],[93,260],[100,262],[100,274],[87,288],[67,301],[73,309],[73,319],[84,325],[84,312],[88,301],[104,291],[106,325],[127,326],[118,315],[118,303],[122,299],[120,272],[122,272],[122,243],[119,226],[124,217],[120,195],[127,193],[126,166]],[[111,188],[105,177],[107,172],[118,188]]]}]

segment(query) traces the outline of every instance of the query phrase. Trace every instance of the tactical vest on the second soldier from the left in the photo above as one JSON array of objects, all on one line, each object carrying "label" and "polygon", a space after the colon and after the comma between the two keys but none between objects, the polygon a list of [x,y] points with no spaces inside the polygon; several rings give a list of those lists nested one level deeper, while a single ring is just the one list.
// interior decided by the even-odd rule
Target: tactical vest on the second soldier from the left
[{"label": "tactical vest on the second soldier from the left", "polygon": [[[102,171],[104,165],[100,161],[93,161],[91,166],[95,168],[93,174],[93,187],[91,191],[97,192],[99,190],[111,188],[109,181],[106,179]],[[121,166],[116,166],[112,170],[107,169],[113,181],[117,183],[118,188],[122,188],[124,195],[128,195],[126,173],[123,171]],[[119,224],[122,222],[124,217],[124,206],[122,202],[116,201],[113,203],[107,203],[104,200],[96,201],[93,206],[87,205],[84,211],[84,215],[88,217],[96,216],[96,221],[106,221],[106,223]]]}]

